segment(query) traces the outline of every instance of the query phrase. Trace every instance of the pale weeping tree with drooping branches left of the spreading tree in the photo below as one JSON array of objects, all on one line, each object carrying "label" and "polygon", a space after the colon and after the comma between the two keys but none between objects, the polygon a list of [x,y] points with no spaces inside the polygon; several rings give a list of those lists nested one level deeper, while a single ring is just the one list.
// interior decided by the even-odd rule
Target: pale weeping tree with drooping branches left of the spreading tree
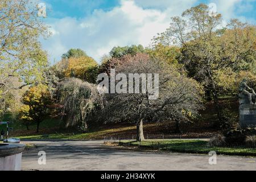
[{"label": "pale weeping tree with drooping branches left of the spreading tree", "polygon": [[96,85],[79,78],[65,78],[57,88],[57,98],[65,127],[79,124],[80,129],[86,131],[89,114],[102,106],[102,96],[98,94]]}]

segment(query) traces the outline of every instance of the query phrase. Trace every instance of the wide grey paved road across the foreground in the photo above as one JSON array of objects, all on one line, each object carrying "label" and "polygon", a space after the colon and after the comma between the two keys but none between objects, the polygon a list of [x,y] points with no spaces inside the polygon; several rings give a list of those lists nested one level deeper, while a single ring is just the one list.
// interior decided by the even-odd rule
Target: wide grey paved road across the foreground
[{"label": "wide grey paved road across the foreground", "polygon": [[[208,155],[154,153],[116,150],[102,141],[44,141],[23,152],[22,170],[256,170],[256,158],[217,156],[217,164],[208,163]],[[38,151],[46,152],[46,165],[38,164]]]}]

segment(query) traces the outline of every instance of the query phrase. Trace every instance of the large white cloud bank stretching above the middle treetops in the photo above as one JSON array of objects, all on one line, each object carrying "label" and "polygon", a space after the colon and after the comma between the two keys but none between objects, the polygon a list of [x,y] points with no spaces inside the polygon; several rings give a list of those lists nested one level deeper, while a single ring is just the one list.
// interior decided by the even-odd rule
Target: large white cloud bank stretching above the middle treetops
[{"label": "large white cloud bank stretching above the middle treetops", "polygon": [[114,46],[148,46],[157,33],[166,30],[171,16],[181,14],[191,6],[187,3],[177,8],[179,0],[170,2],[173,6],[163,10],[140,6],[137,0],[121,0],[120,5],[110,11],[94,10],[82,19],[48,19],[53,34],[42,41],[43,48],[48,51],[51,60],[60,60],[69,48],[81,48],[99,62]]}]

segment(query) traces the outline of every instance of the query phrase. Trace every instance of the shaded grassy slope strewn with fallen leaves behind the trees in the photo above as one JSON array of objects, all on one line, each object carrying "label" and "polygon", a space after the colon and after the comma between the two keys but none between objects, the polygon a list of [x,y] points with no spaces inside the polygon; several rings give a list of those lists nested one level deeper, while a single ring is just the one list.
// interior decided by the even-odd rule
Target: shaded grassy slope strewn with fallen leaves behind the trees
[{"label": "shaded grassy slope strewn with fallen leaves behind the trees", "polygon": [[[238,102],[233,98],[222,98],[221,101],[224,107],[230,108],[234,114],[238,113]],[[7,118],[2,120],[6,121]],[[11,120],[11,119],[10,119]],[[193,122],[181,122],[180,130],[183,137],[197,138],[199,135],[214,135],[221,131],[215,126],[217,122],[216,110],[213,102],[208,102],[205,110],[201,111],[201,117]],[[104,137],[120,137],[131,136],[136,134],[136,126],[134,123],[108,123],[104,125],[93,125],[88,132],[81,133],[77,127],[64,129],[63,123],[60,119],[52,118],[46,119],[40,123],[39,133],[36,133],[36,125],[26,126],[22,123],[14,121],[10,127],[11,137],[18,137],[22,139],[104,139]],[[5,129],[5,125],[0,125],[0,130]],[[174,134],[174,122],[159,122],[159,123],[144,123],[143,130],[145,135],[158,134]]]}]

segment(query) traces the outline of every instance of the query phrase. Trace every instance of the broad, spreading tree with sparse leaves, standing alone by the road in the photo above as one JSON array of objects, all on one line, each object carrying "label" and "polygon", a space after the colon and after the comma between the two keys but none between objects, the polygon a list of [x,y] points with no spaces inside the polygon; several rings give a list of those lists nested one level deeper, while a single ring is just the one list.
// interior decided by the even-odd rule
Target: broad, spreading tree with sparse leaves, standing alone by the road
[{"label": "broad, spreading tree with sparse leaves, standing alone by the road", "polygon": [[[136,122],[137,140],[144,140],[143,122],[146,121],[181,121],[188,120],[196,115],[201,108],[202,93],[200,85],[193,79],[180,75],[175,68],[166,61],[138,53],[135,56],[122,57],[121,65],[115,68],[116,73],[123,73],[122,81],[127,81],[129,73],[158,73],[159,85],[156,84],[157,76],[152,76],[154,89],[144,86],[144,92],[126,93],[128,86],[119,85],[125,93],[106,94],[108,104],[105,108],[106,121],[109,122]],[[140,90],[143,84],[150,84],[148,80],[139,78]],[[133,89],[135,80],[132,79]],[[137,80],[138,81],[138,80]],[[145,82],[146,81],[146,82]],[[129,82],[130,84],[130,82]],[[138,84],[138,83],[137,83]],[[130,86],[130,85],[129,85]],[[125,91],[126,90],[126,91]],[[159,97],[151,99],[159,90]]]}]

